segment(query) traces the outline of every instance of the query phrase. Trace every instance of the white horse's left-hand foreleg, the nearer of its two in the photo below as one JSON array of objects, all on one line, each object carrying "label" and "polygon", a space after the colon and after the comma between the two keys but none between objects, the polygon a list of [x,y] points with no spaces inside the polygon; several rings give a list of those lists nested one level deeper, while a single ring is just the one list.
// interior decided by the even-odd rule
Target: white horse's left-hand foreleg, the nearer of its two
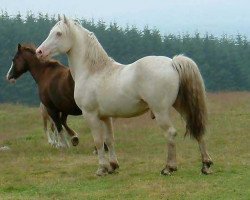
[{"label": "white horse's left-hand foreleg, the nearer of its two", "polygon": [[105,139],[105,124],[99,119],[97,114],[85,113],[85,119],[91,129],[94,143],[97,149],[99,168],[96,175],[103,176],[113,171],[108,160],[105,157],[104,139]]}]

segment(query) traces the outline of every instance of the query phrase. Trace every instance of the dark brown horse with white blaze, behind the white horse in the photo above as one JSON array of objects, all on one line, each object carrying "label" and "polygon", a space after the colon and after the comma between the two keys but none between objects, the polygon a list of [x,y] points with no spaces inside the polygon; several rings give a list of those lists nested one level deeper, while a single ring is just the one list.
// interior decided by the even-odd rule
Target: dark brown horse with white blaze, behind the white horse
[{"label": "dark brown horse with white blaze, behind the white horse", "polygon": [[[57,146],[66,147],[68,145],[62,126],[71,136],[72,145],[76,146],[79,139],[77,134],[67,126],[66,120],[68,115],[81,115],[82,111],[74,100],[74,80],[69,68],[57,61],[39,60],[34,47],[18,44],[18,50],[6,78],[13,82],[27,71],[36,81],[40,100],[55,124],[55,130],[60,138]],[[44,113],[42,112],[42,114]]]}]

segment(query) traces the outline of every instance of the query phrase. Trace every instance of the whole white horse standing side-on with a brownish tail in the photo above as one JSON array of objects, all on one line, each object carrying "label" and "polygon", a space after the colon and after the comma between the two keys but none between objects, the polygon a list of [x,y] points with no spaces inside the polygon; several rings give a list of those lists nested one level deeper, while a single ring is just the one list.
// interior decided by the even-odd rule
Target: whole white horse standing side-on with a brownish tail
[{"label": "whole white horse standing side-on with a brownish tail", "polygon": [[[205,89],[199,69],[190,58],[147,56],[129,65],[117,63],[92,32],[65,16],[51,29],[36,53],[45,59],[67,54],[75,80],[75,101],[91,128],[98,151],[97,175],[112,173],[119,167],[111,117],[134,117],[149,109],[168,139],[167,162],[161,173],[169,175],[176,171],[172,106],[184,117],[186,133],[199,143],[202,172],[210,173],[212,160],[203,139],[207,119]],[[110,150],[109,161],[104,154],[104,141]]]}]

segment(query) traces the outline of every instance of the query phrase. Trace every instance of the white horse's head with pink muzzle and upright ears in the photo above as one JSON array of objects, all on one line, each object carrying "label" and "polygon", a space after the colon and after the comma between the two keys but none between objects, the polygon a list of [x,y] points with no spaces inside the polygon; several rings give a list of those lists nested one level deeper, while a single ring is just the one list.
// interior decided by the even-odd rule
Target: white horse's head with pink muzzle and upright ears
[{"label": "white horse's head with pink muzzle and upright ears", "polygon": [[37,48],[38,58],[48,59],[71,49],[73,41],[70,25],[71,21],[65,15],[63,19],[59,18],[59,22],[51,29],[46,40]]}]

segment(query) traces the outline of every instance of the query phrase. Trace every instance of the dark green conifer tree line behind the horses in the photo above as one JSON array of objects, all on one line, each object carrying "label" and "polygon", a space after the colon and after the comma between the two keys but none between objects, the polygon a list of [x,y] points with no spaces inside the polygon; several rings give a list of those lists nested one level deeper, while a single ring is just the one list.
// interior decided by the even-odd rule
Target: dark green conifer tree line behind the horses
[{"label": "dark green conifer tree line behind the horses", "polygon": [[[173,57],[185,54],[198,64],[207,91],[250,90],[250,44],[243,35],[220,37],[211,34],[166,34],[147,26],[120,27],[117,23],[78,20],[96,37],[116,61],[128,64],[147,55]],[[57,22],[55,16],[32,13],[0,15],[0,103],[39,103],[37,88],[29,73],[15,85],[5,81],[18,43],[38,46]],[[65,56],[58,59],[67,65]]]}]

